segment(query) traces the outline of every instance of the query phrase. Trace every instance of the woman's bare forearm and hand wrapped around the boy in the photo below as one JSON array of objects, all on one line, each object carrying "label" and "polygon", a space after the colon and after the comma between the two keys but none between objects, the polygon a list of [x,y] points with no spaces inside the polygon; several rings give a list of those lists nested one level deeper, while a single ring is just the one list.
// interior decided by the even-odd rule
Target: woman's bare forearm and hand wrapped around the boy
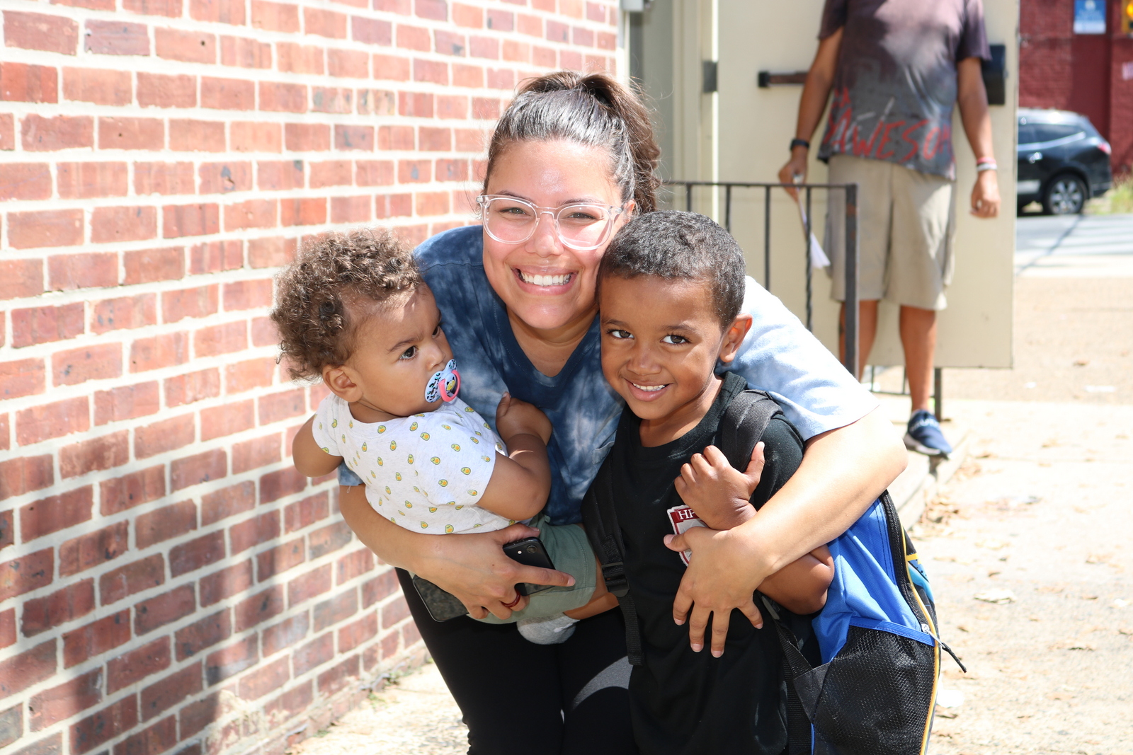
[{"label": "woman's bare forearm and hand wrapped around the boy", "polygon": [[673,602],[673,620],[689,621],[693,650],[704,646],[709,615],[714,653],[724,650],[733,608],[761,625],[752,602],[760,583],[845,532],[908,461],[893,424],[875,410],[808,440],[799,470],[744,524],[723,532],[692,527],[666,538],[672,550],[695,554]]}]

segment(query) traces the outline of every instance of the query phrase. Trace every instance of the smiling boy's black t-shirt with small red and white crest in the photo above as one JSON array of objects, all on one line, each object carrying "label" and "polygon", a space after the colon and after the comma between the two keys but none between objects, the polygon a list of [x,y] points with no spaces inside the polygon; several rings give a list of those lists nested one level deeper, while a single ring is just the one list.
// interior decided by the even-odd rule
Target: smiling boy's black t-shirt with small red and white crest
[{"label": "smiling boy's black t-shirt with small red and white crest", "polygon": [[[670,509],[684,506],[673,480],[692,454],[717,443],[724,411],[746,387],[742,377],[725,374],[700,423],[653,448],[641,446],[641,421],[627,409],[610,454],[645,652],[645,666],[634,667],[630,678],[633,736],[642,755],[778,755],[786,745],[782,653],[770,617],[756,629],[734,610],[724,654],[712,657],[707,633],[706,647],[693,653],[688,625],[673,623],[673,598],[685,565],[663,541],[674,532]],[[803,451],[799,434],[782,415],[770,421],[763,440],[766,465],[751,498],[757,508],[794,473]]]}]

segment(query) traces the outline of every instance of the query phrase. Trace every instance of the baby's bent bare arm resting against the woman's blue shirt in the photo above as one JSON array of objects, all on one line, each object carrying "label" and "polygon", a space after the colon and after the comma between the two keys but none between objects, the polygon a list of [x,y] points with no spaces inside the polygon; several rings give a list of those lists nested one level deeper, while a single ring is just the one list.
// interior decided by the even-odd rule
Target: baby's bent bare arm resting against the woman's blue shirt
[{"label": "baby's bent bare arm resting against the woman's blue shirt", "polygon": [[531,404],[504,394],[496,407],[496,428],[508,455],[496,454],[492,479],[477,505],[510,520],[530,518],[551,492],[551,422]]}]

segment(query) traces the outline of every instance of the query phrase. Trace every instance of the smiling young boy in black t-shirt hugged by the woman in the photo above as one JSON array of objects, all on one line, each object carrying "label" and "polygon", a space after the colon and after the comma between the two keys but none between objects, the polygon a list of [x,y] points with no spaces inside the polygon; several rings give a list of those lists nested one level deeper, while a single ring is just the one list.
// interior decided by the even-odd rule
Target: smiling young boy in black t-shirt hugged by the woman
[{"label": "smiling young boy in black t-shirt hugged by the woman", "polygon": [[[775,627],[769,617],[752,627],[733,611],[725,652],[693,652],[688,627],[673,621],[685,560],[664,544],[674,523],[693,516],[715,530],[755,516],[802,458],[802,440],[782,414],[763,435],[761,475],[733,470],[712,447],[729,403],[747,388],[740,376],[715,371],[751,326],[739,315],[742,254],[702,215],[649,213],[615,237],[598,285],[603,374],[625,411],[603,470],[608,494],[593,492],[612,496],[640,626],[645,664],[630,679],[634,738],[645,755],[780,755],[786,717]],[[810,614],[825,603],[832,567],[824,547],[759,589]]]}]

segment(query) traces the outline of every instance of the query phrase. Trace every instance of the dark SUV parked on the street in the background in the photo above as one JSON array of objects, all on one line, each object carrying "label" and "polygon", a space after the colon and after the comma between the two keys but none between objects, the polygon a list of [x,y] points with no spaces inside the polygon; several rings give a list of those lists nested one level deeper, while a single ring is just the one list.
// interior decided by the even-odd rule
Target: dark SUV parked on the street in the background
[{"label": "dark SUV parked on the street in the background", "polygon": [[1109,143],[1085,115],[1064,110],[1019,111],[1019,208],[1041,201],[1048,215],[1082,212],[1113,186]]}]

